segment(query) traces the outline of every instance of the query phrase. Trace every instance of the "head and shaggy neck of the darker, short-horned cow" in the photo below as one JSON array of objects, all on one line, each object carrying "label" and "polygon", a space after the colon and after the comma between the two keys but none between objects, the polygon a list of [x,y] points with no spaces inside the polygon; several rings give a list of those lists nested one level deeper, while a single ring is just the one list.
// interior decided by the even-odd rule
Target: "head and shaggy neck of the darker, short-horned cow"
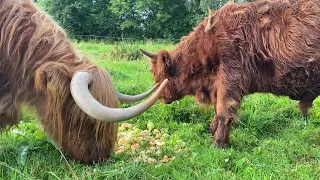
[{"label": "head and shaggy neck of the darker, short-horned cow", "polygon": [[[215,41],[214,14],[184,37],[178,47],[169,52],[161,50],[151,53],[142,50],[151,58],[151,72],[157,83],[169,79],[162,100],[164,103],[181,99],[185,95],[196,95],[201,102],[210,100],[210,91],[218,69],[219,58]],[[210,78],[208,76],[210,75]]]}]

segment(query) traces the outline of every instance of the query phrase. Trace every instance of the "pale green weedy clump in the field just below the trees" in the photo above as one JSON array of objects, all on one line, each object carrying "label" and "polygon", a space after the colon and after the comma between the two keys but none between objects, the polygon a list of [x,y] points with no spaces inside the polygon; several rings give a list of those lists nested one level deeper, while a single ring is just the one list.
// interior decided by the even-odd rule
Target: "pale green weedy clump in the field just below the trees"
[{"label": "pale green weedy clump in the field just below the trees", "polygon": [[115,44],[114,48],[110,51],[110,58],[114,60],[134,61],[142,57],[143,55],[139,51],[139,45],[137,43],[119,42]]}]

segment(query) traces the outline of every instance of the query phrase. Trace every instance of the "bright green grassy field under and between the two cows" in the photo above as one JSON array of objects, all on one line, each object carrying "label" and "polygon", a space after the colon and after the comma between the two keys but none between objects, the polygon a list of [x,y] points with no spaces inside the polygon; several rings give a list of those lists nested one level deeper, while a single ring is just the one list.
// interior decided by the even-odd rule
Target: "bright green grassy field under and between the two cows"
[{"label": "bright green grassy field under and between the two cows", "polygon": [[[136,50],[174,47],[153,43],[76,46],[106,68],[117,89],[128,94],[154,84],[149,63]],[[109,161],[87,166],[64,157],[44,134],[32,109],[26,108],[19,126],[0,136],[0,179],[320,179],[319,99],[304,118],[297,102],[286,97],[246,97],[227,149],[212,145],[208,128],[213,116],[212,107],[195,104],[193,97],[170,105],[157,103],[120,130],[126,138],[148,136],[165,144],[154,147],[142,141],[140,147],[133,147],[128,143]],[[154,128],[147,126],[150,122]]]}]

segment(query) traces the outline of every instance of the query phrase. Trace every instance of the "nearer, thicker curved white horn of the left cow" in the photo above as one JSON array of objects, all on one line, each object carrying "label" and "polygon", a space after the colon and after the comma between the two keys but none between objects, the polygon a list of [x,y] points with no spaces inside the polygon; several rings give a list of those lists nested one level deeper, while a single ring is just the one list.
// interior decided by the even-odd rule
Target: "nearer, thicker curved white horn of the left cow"
[{"label": "nearer, thicker curved white horn of the left cow", "polygon": [[88,85],[92,75],[88,72],[74,74],[70,84],[71,95],[77,105],[89,116],[106,122],[120,122],[133,118],[149,109],[161,96],[168,80],[164,80],[158,90],[146,101],[129,108],[109,108],[100,104],[91,95]]}]

